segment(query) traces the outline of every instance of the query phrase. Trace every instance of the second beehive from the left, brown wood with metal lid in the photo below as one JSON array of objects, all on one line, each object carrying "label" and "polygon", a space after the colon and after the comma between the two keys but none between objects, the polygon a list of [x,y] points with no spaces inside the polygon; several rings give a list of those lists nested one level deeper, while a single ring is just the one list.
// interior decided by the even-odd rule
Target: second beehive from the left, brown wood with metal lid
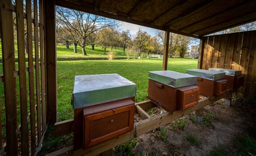
[{"label": "second beehive from the left, brown wood with metal lid", "polygon": [[153,103],[174,112],[198,104],[197,77],[174,71],[149,72],[149,93]]}]

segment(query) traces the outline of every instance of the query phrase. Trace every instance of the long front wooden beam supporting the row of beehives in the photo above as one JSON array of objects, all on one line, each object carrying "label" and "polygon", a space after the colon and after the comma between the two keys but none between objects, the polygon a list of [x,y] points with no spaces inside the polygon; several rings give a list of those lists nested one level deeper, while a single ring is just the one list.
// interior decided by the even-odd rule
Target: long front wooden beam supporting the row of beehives
[{"label": "long front wooden beam supporting the row of beehives", "polygon": [[[158,128],[160,126],[170,124],[171,121],[181,118],[183,116],[186,116],[187,114],[190,114],[194,111],[200,110],[201,108],[204,108],[205,106],[210,105],[214,101],[217,101],[219,99],[230,96],[232,93],[233,93],[232,91],[227,91],[225,94],[223,94],[221,96],[213,97],[212,99],[208,99],[208,98],[201,99],[201,100],[199,100],[198,105],[187,108],[184,111],[176,111],[176,112],[173,112],[173,114],[166,112],[163,114],[159,114],[158,116],[150,117],[145,120],[139,121],[138,123],[134,124],[133,131],[119,135],[116,138],[107,140],[98,145],[89,147],[86,150],[80,149],[80,150],[73,151],[73,146],[69,146],[69,147],[64,147],[58,151],[49,153],[46,156],[52,156],[52,155],[70,155],[70,156],[71,155],[97,155],[97,154],[107,151],[113,147],[116,147],[126,141],[136,138],[139,135],[142,135],[142,134],[145,134],[152,130],[155,130],[156,128]],[[149,101],[145,101],[144,103],[146,103],[147,105],[150,105]]]}]

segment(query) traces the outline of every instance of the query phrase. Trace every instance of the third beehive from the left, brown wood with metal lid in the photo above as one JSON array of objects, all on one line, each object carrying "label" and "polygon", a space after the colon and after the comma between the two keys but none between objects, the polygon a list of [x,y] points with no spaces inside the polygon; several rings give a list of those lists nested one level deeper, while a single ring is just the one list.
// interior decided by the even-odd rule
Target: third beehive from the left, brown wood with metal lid
[{"label": "third beehive from the left, brown wood with metal lid", "polygon": [[197,86],[200,87],[200,94],[203,96],[212,98],[214,95],[219,96],[227,91],[225,72],[189,69],[186,73],[197,76]]}]

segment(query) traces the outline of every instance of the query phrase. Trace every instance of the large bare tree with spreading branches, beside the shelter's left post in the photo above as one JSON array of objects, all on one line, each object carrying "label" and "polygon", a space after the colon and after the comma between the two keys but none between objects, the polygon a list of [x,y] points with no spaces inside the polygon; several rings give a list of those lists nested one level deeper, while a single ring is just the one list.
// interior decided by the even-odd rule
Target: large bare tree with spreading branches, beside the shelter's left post
[{"label": "large bare tree with spreading branches, beside the shelter's left post", "polygon": [[118,25],[118,22],[113,19],[91,15],[90,13],[82,11],[66,9],[60,6],[57,6],[56,16],[57,24],[66,33],[70,33],[74,43],[82,48],[84,55],[87,55],[85,46],[88,36],[103,28]]}]

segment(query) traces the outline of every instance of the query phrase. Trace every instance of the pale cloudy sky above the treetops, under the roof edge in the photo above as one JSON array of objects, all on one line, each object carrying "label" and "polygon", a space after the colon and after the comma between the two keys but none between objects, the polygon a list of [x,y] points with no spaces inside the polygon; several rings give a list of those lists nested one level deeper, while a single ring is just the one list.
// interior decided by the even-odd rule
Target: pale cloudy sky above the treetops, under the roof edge
[{"label": "pale cloudy sky above the treetops, under the roof edge", "polygon": [[120,22],[120,29],[121,30],[129,30],[132,36],[135,36],[139,29],[146,31],[151,36],[155,36],[156,33],[159,31],[157,29],[147,28],[146,26],[140,26],[136,24],[131,24],[127,22]]}]

